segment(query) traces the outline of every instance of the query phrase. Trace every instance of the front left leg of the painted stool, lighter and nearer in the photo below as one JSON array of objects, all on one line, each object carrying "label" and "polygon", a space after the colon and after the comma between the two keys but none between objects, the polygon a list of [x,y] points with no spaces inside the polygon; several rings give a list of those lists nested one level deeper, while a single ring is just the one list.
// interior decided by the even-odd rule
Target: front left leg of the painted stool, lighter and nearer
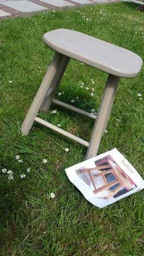
[{"label": "front left leg of the painted stool, lighter and nearer", "polygon": [[35,95],[32,105],[30,106],[26,118],[22,124],[21,132],[23,135],[27,135],[29,133],[29,130],[33,125],[34,119],[38,114],[41,104],[44,101],[44,97],[46,96],[47,91],[53,82],[53,79],[56,77],[57,71],[59,70],[59,67],[61,67],[63,60],[64,58],[62,54],[55,54],[53,61],[51,62],[50,67],[48,68],[47,73],[41,82],[41,86],[39,87],[38,92]]}]

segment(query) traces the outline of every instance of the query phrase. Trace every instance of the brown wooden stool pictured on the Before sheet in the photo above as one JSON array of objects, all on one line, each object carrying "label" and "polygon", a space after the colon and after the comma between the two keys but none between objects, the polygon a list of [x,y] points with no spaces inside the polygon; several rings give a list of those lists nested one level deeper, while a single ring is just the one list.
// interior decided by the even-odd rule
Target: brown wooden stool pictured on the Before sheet
[{"label": "brown wooden stool pictured on the Before sheet", "polygon": [[[107,171],[101,171],[102,169],[107,169],[109,168],[109,170]],[[92,174],[92,171],[99,171],[97,174]],[[109,197],[113,197],[115,194],[117,194],[122,188],[126,188],[126,189],[132,189],[132,184],[129,181],[128,178],[126,178],[126,175],[123,175],[122,170],[120,169],[120,167],[118,165],[116,165],[115,163],[113,163],[111,160],[108,160],[108,165],[100,165],[100,166],[96,166],[94,168],[87,168],[87,169],[79,169],[79,172],[81,174],[87,173],[91,179],[91,182],[94,186],[94,194],[98,194],[102,191],[108,191],[109,194],[105,197],[106,199],[109,199]],[[107,182],[106,179],[106,174],[113,174],[115,177],[115,180],[113,180],[112,182]],[[101,187],[97,188],[96,187],[96,177],[102,177],[103,178],[103,182],[105,183],[105,185],[102,185]],[[115,188],[114,190],[109,190],[109,188],[111,188],[112,186],[118,184],[118,187]]]}]

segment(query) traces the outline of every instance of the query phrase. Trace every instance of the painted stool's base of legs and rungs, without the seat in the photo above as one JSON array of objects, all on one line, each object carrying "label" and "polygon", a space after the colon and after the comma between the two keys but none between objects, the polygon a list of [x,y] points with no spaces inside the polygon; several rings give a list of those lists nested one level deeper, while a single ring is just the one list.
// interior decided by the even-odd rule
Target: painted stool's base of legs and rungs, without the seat
[{"label": "painted stool's base of legs and rungs, without the seat", "polygon": [[[50,67],[48,68],[47,73],[45,74],[44,79],[41,82],[41,86],[38,89],[37,94],[35,95],[32,105],[29,108],[26,118],[24,119],[21,127],[21,132],[23,135],[27,135],[34,121],[36,121],[88,147],[86,159],[89,159],[97,155],[101,137],[103,135],[103,132],[106,130],[106,126],[109,120],[109,115],[115,99],[115,94],[120,77],[109,74],[98,114],[97,116],[92,115],[88,112],[85,112],[84,110],[78,109],[74,106],[70,106],[66,103],[54,99],[56,90],[59,86],[59,83],[61,82],[69,59],[70,58],[68,56],[65,56],[58,52],[55,53],[53,61],[51,62]],[[91,135],[91,140],[89,143],[37,117],[38,112],[47,111],[50,108],[52,102],[65,108],[71,109],[75,112],[78,112],[82,115],[96,119],[94,129]]]}]

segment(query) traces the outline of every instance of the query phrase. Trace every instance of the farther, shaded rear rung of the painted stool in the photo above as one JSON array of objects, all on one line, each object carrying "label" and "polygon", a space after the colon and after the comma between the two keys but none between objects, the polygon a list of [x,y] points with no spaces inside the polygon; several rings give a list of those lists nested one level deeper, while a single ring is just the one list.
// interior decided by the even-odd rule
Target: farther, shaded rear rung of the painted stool
[{"label": "farther, shaded rear rung of the painted stool", "polygon": [[73,110],[74,112],[77,112],[77,113],[79,113],[79,114],[85,115],[85,116],[87,116],[87,117],[89,117],[89,118],[93,118],[93,119],[96,119],[96,118],[97,118],[96,115],[93,115],[93,114],[91,114],[91,113],[88,113],[88,112],[86,112],[86,111],[84,111],[84,110],[82,110],[82,109],[78,109],[78,108],[76,108],[76,107],[74,107],[74,106],[68,105],[68,104],[66,104],[66,103],[64,103],[64,102],[62,102],[62,101],[53,99],[52,102],[55,103],[55,104],[57,104],[57,105],[59,105],[59,106],[62,106],[62,107],[64,107],[64,108]]}]

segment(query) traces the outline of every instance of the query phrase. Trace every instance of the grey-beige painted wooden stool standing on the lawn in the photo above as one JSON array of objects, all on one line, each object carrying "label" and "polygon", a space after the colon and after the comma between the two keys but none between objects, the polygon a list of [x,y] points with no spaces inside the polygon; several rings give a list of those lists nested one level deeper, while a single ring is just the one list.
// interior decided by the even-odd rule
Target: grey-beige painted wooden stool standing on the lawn
[{"label": "grey-beige painted wooden stool standing on the lawn", "polygon": [[[89,159],[97,155],[120,77],[136,77],[141,70],[142,59],[129,50],[69,29],[47,32],[43,41],[56,53],[22,124],[21,132],[27,135],[36,121],[88,147],[86,159]],[[109,74],[97,117],[54,99],[70,58]],[[39,111],[47,111],[50,108],[51,102],[96,119],[89,143],[37,117]]]}]

